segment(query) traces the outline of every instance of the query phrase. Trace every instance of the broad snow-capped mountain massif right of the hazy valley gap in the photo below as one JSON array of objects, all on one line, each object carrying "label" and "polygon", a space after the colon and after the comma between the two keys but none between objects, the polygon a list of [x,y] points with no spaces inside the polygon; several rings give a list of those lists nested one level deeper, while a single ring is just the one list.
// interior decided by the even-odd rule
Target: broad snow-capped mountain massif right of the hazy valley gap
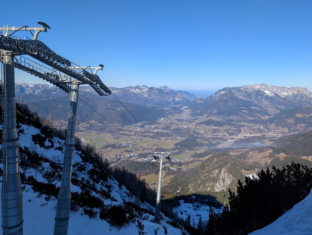
[{"label": "broad snow-capped mountain massif right of the hazy valley gap", "polygon": [[312,106],[312,93],[304,87],[266,84],[226,87],[206,100],[189,104],[192,115],[219,115],[232,120],[267,119],[280,110]]}]

